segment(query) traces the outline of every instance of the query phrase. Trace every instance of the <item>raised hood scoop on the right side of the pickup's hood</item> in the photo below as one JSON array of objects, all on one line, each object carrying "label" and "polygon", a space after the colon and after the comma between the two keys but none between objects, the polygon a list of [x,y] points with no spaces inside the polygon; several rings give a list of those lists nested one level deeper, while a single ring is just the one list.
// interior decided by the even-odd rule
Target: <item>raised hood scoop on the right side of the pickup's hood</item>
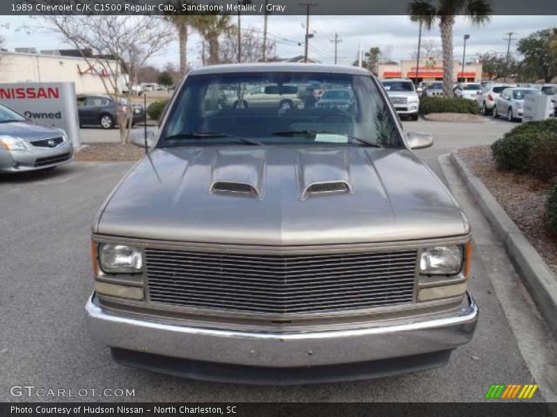
[{"label": "raised hood scoop on the right side of the pickup's hood", "polygon": [[298,170],[302,200],[353,192],[345,149],[299,151]]}]

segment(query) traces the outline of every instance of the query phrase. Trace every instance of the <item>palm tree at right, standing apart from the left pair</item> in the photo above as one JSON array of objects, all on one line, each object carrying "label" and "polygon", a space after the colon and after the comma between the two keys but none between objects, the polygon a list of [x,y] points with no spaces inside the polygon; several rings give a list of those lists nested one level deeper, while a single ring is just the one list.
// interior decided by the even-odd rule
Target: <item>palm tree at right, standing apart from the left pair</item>
[{"label": "palm tree at right, standing apart from the left pair", "polygon": [[443,94],[450,97],[453,86],[453,25],[455,16],[464,15],[474,26],[489,22],[492,7],[487,0],[413,0],[408,14],[414,22],[431,29],[439,20],[443,49]]}]

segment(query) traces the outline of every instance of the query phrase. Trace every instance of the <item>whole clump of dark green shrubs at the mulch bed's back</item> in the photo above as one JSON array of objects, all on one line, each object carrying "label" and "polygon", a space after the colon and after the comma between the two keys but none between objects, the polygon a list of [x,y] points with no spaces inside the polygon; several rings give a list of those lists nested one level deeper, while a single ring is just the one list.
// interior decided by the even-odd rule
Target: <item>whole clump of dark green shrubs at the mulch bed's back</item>
[{"label": "whole clump of dark green shrubs at the mulch bed's back", "polygon": [[500,169],[547,181],[557,175],[557,120],[521,124],[496,140],[492,152]]}]

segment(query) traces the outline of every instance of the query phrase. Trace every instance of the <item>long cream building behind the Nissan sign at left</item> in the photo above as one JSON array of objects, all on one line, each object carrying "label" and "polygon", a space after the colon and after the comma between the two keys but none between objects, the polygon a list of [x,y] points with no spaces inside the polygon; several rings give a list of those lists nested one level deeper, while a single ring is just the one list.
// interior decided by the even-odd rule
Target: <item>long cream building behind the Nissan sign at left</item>
[{"label": "long cream building behind the Nissan sign at left", "polygon": [[[118,69],[118,63],[111,59],[92,57],[88,63],[75,49],[36,51],[33,48],[17,48],[15,52],[0,51],[2,83],[74,83],[77,94],[106,94],[104,83],[110,85],[108,77]],[[123,90],[123,76],[119,84],[120,90]]]}]

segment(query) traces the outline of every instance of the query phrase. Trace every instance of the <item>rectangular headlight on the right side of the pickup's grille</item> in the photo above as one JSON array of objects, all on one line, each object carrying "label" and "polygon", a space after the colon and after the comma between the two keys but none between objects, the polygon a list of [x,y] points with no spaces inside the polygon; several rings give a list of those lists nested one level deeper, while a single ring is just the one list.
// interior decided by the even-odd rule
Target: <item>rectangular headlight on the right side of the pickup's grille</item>
[{"label": "rectangular headlight on the right side of the pickup's grille", "polygon": [[455,275],[462,269],[464,250],[458,246],[428,247],[422,251],[420,273],[423,275]]}]

